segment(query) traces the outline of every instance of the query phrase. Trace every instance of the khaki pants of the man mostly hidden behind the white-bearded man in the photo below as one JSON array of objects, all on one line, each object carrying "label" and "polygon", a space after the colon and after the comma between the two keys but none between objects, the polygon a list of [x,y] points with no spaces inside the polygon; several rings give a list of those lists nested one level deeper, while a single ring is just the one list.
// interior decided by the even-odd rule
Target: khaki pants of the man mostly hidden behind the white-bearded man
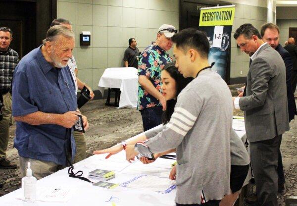
[{"label": "khaki pants of the man mostly hidden behind the white-bearded man", "polygon": [[86,139],[85,133],[77,131],[73,131],[73,137],[76,144],[76,154],[73,163],[76,163],[86,158]]}]

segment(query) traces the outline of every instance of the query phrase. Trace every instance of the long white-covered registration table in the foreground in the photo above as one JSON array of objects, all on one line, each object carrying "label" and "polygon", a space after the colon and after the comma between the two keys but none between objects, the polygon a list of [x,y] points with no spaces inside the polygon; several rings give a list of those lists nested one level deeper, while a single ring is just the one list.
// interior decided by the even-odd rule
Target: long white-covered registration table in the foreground
[{"label": "long white-covered registration table in the foreground", "polygon": [[[235,120],[236,121],[236,120]],[[239,137],[243,142],[246,141],[246,134],[244,131],[236,131]],[[139,134],[141,135],[141,134]],[[126,162],[125,153],[122,151],[119,154],[111,156],[109,159],[105,160],[106,154],[102,155],[93,155],[87,159],[84,159],[76,164],[74,164],[74,172],[78,170],[83,170],[84,177],[88,177],[88,173],[94,169],[110,169],[116,172],[116,177],[109,180],[108,182],[112,183],[124,183],[133,179],[139,174],[131,174],[127,172],[129,167],[137,166],[138,167],[157,167],[159,165],[168,165],[166,171],[170,171],[170,166],[172,161],[171,159],[158,158],[155,162],[145,165],[141,162],[135,162],[130,164],[128,167],[122,171],[116,171],[114,168],[109,168],[110,166],[118,167],[121,164]],[[102,166],[102,161],[110,163],[109,166]],[[138,164],[138,165],[136,165]],[[119,199],[119,203],[116,203],[116,206],[175,206],[175,194],[176,189],[167,194],[161,194],[149,190],[141,189],[132,189],[118,186],[117,188],[110,190],[100,187],[93,186],[91,183],[86,181],[79,180],[77,178],[68,177],[67,173],[68,168],[59,170],[41,180],[37,181],[37,187],[71,187],[76,188],[77,193],[72,196],[66,203],[57,203],[57,202],[40,202],[36,201],[32,204],[24,203],[21,200],[16,199],[22,194],[22,189],[15,190],[7,195],[0,197],[0,206],[112,206],[111,202],[106,202],[110,199],[111,196]],[[148,170],[148,169],[147,169]],[[164,170],[164,169],[163,169]],[[131,170],[130,170],[131,171]],[[150,174],[150,173],[143,173]],[[249,177],[247,177],[248,181]],[[94,182],[98,180],[93,179]],[[247,184],[247,183],[245,183]]]}]

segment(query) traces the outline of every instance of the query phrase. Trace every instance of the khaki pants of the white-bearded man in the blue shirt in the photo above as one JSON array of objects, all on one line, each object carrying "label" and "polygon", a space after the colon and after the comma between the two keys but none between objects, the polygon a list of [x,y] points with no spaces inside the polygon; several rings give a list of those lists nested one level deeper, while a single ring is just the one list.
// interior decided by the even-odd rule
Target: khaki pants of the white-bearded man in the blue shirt
[{"label": "khaki pants of the white-bearded man in the blue shirt", "polygon": [[20,161],[20,170],[21,170],[21,177],[23,178],[26,176],[26,171],[28,168],[28,162],[31,162],[31,169],[32,175],[36,177],[36,179],[44,178],[60,169],[65,168],[65,166],[56,164],[52,161],[43,161],[38,159],[31,159],[22,157],[19,155]]}]

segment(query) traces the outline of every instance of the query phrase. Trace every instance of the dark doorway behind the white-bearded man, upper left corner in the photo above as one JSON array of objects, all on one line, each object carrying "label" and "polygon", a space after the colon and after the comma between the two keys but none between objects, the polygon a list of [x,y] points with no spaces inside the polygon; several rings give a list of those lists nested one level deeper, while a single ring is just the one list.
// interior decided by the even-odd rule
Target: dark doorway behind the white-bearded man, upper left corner
[{"label": "dark doorway behind the white-bearded man, upper left corner", "polygon": [[10,48],[20,58],[42,44],[50,22],[56,18],[56,3],[57,0],[0,0],[0,27],[12,30]]}]

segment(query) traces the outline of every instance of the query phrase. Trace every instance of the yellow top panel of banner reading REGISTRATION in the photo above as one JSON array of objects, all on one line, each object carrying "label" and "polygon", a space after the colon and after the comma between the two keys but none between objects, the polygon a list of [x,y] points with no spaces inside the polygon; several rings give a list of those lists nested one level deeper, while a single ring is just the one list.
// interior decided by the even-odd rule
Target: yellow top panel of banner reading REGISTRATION
[{"label": "yellow top panel of banner reading REGISTRATION", "polygon": [[218,7],[201,9],[199,26],[226,26],[232,25],[235,7]]}]

